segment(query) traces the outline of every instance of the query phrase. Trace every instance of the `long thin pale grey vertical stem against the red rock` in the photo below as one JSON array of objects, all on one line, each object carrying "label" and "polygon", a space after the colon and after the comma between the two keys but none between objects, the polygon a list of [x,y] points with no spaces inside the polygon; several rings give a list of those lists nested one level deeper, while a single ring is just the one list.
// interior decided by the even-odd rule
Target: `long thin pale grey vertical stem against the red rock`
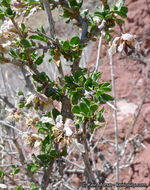
[{"label": "long thin pale grey vertical stem against the red rock", "polygon": [[[114,106],[116,107],[116,91],[115,91],[115,78],[113,67],[113,55],[110,54],[110,67],[111,67],[111,80],[112,80],[112,94],[114,97]],[[115,131],[115,152],[116,152],[116,183],[119,183],[119,152],[118,152],[118,122],[117,122],[117,110],[114,109],[114,131]],[[118,187],[116,187],[118,190]]]}]

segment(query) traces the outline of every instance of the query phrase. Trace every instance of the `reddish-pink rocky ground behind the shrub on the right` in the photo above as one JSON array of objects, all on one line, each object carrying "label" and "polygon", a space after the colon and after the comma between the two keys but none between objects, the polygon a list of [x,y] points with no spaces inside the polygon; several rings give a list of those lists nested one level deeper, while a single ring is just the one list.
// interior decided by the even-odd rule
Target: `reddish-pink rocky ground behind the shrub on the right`
[{"label": "reddish-pink rocky ground behind the shrub on the right", "polygon": [[[141,44],[142,57],[141,60],[138,60],[119,54],[114,56],[119,143],[122,144],[135,120],[130,137],[136,134],[143,135],[144,146],[139,149],[131,166],[120,172],[120,182],[146,183],[149,187],[136,187],[135,189],[150,190],[150,1],[126,0],[125,2],[129,12],[123,30],[124,33],[136,34],[137,41]],[[99,70],[102,71],[102,81],[111,81],[110,66],[105,50],[105,45],[103,45]],[[94,47],[93,56],[89,61],[90,68],[95,65],[96,56],[97,45]],[[104,137],[113,139],[111,109],[107,109],[105,118],[108,122]],[[106,147],[101,147],[101,150],[104,148]]]}]

